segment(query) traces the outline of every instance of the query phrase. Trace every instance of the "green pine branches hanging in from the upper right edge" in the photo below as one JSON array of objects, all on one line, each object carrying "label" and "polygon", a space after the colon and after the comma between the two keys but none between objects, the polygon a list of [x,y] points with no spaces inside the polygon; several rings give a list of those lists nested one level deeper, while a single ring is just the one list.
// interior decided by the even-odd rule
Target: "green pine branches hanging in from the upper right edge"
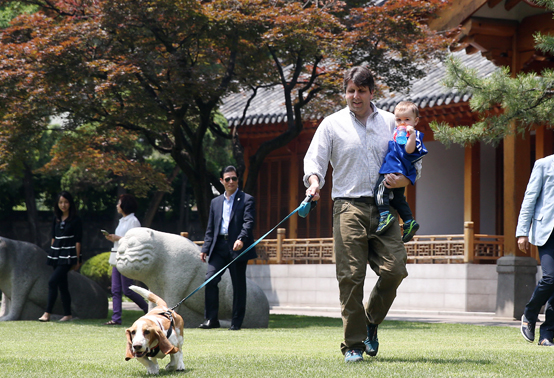
[{"label": "green pine branches hanging in from the upper right edge", "polygon": [[[536,0],[535,3],[554,11],[554,1]],[[554,54],[554,37],[537,33],[536,48]],[[435,139],[445,145],[473,144],[478,141],[496,145],[508,135],[523,134],[535,124],[554,125],[554,70],[522,72],[512,77],[510,69],[502,67],[489,77],[481,77],[476,70],[464,67],[458,60],[447,62],[445,86],[460,93],[470,93],[471,110],[479,114],[479,121],[471,126],[452,127],[433,122],[430,126]],[[495,114],[500,107],[503,111]],[[514,121],[516,121],[514,123]],[[515,128],[513,125],[515,124]]]}]

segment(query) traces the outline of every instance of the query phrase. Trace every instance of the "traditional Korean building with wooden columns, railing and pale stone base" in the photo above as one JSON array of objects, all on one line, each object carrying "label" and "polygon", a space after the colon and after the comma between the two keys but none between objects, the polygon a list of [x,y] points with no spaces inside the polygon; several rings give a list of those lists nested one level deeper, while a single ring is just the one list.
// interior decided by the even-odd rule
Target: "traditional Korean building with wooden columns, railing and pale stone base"
[{"label": "traditional Korean building with wooden columns, railing and pale stone base", "polygon": [[[488,75],[499,66],[509,67],[514,76],[519,72],[540,73],[554,66],[554,57],[536,50],[533,38],[537,32],[553,34],[552,12],[536,6],[531,0],[453,0],[437,16],[430,26],[453,32],[456,39],[451,46],[453,55],[481,75]],[[450,287],[445,281],[448,279],[445,272],[454,270],[429,264],[413,265],[410,277],[415,288],[406,287],[406,295],[400,296],[406,300],[397,301],[396,305],[403,309],[425,310],[494,311],[496,308],[497,318],[519,319],[540,271],[536,266],[536,249],[532,248],[531,255],[526,256],[517,248],[515,228],[534,161],[554,153],[554,133],[544,125],[535,125],[525,135],[506,137],[497,146],[477,143],[445,148],[434,140],[429,123],[436,120],[453,126],[471,125],[477,116],[469,107],[467,93],[457,93],[440,85],[444,75],[444,66],[437,63],[425,78],[412,83],[409,92],[393,93],[376,101],[378,107],[389,111],[401,100],[416,102],[421,111],[419,129],[425,133],[424,143],[429,150],[423,160],[422,178],[415,186],[407,188],[408,200],[421,224],[414,241],[406,244],[408,259],[415,263],[496,262],[496,266],[457,265],[454,270],[461,272],[456,276],[460,279]],[[233,125],[240,122],[246,96],[233,96],[222,108]],[[239,126],[246,159],[260,143],[275,137],[286,127],[282,104],[279,89],[266,90],[252,102],[245,124]],[[303,199],[302,160],[323,117],[306,117],[301,135],[266,159],[256,193],[257,236],[273,227]],[[327,180],[330,181],[330,172]],[[265,248],[266,255],[271,255],[269,260],[277,263],[333,261],[332,251],[329,253],[332,235],[330,189],[323,188],[321,194],[315,212],[306,219],[292,217],[284,226],[286,235],[281,234],[276,243],[268,241],[259,248]],[[275,235],[270,237],[275,238]],[[283,241],[283,238],[289,240]],[[292,240],[296,238],[318,239]],[[314,247],[312,242],[320,246]],[[291,251],[299,243],[303,243],[298,248],[301,259],[295,260]],[[317,253],[312,251],[318,248],[321,250],[319,257],[313,257]],[[263,272],[260,277],[267,280],[267,269],[260,271]],[[273,271],[281,272],[269,270]],[[317,271],[316,276],[322,271]],[[444,293],[429,290],[426,279],[430,275],[441,277],[434,289],[441,291],[439,289],[443,288]],[[300,276],[305,277],[306,271],[302,270]],[[490,281],[486,281],[485,276]],[[424,279],[420,282],[419,278]],[[275,285],[271,286],[271,293],[279,294],[275,295],[277,304],[312,305],[313,302],[317,305],[321,302],[318,302],[318,295],[323,294],[317,292],[310,292],[302,301],[281,300],[281,297],[288,298],[288,294],[279,291],[277,281],[277,278],[271,279]],[[418,289],[418,282],[426,290]],[[491,282],[496,284],[496,290]],[[459,293],[463,295],[460,297]],[[291,298],[300,298],[297,292],[289,294]]]}]

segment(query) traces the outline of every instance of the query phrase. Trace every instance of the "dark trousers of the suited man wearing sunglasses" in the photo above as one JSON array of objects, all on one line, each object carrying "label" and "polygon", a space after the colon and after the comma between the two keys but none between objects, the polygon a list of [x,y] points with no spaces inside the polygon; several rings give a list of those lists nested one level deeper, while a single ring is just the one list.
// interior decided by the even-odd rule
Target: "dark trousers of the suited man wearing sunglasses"
[{"label": "dark trousers of the suited man wearing sunglasses", "polygon": [[[234,241],[233,241],[234,242]],[[206,280],[210,279],[214,274],[219,272],[223,267],[229,264],[233,258],[231,256],[230,242],[224,237],[217,238],[214,250],[208,262],[208,271],[206,272]],[[231,325],[242,327],[244,314],[246,312],[246,266],[248,261],[235,261],[229,266],[231,274],[231,282],[233,283],[233,317]],[[205,287],[205,313],[204,317],[207,320],[219,320],[219,288],[218,283],[221,281],[222,272],[216,278],[211,280]]]}]

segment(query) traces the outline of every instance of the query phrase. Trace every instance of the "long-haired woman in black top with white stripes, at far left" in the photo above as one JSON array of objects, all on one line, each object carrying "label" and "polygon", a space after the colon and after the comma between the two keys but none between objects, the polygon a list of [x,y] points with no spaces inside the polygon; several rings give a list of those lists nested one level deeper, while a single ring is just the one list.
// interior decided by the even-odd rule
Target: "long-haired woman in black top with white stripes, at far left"
[{"label": "long-haired woman in black top with white stripes, at far left", "polygon": [[63,305],[64,316],[60,322],[71,320],[71,296],[67,275],[70,270],[79,269],[81,262],[81,239],[83,225],[77,216],[75,202],[69,192],[58,194],[54,205],[54,219],[52,221],[52,243],[48,254],[47,264],[54,268],[48,280],[48,302],[46,312],[38,319],[41,322],[50,320],[50,314],[58,298],[58,289]]}]

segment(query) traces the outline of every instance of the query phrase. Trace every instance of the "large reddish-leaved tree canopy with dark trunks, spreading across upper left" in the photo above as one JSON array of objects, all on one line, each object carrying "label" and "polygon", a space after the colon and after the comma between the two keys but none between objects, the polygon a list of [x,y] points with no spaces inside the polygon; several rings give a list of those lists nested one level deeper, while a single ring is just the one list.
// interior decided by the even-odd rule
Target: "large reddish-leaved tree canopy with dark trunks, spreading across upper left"
[{"label": "large reddish-leaved tree canopy with dark trunks, spreading across upper left", "polygon": [[[0,6],[13,3],[0,0]],[[246,185],[252,188],[265,156],[301,131],[301,110],[336,92],[345,62],[378,53],[384,60],[376,73],[391,87],[400,83],[393,77],[417,76],[418,63],[436,50],[436,44],[422,43],[432,36],[425,17],[443,4],[399,0],[391,3],[401,6],[365,9],[285,0],[17,3],[38,11],[15,18],[0,39],[0,144],[40,133],[53,114],[66,116],[67,131],[92,125],[95,133],[117,138],[110,131],[128,130],[173,158],[193,188],[204,225],[212,187],[223,190],[217,171],[207,169],[206,138],[234,137],[235,145],[238,140],[237,130],[230,133],[217,121],[227,94],[286,87],[288,129],[255,154]],[[383,15],[379,24],[367,20],[376,14]],[[381,25],[395,33],[379,34]],[[375,38],[366,41],[370,35]]]}]

